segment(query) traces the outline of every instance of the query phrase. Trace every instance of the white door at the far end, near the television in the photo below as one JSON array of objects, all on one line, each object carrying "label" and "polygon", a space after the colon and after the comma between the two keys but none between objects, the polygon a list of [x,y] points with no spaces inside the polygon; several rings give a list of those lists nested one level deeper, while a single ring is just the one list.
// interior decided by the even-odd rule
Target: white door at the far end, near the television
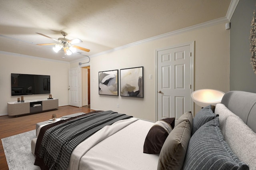
[{"label": "white door at the far end, near the television", "polygon": [[69,70],[69,105],[80,106],[79,100],[79,67]]}]

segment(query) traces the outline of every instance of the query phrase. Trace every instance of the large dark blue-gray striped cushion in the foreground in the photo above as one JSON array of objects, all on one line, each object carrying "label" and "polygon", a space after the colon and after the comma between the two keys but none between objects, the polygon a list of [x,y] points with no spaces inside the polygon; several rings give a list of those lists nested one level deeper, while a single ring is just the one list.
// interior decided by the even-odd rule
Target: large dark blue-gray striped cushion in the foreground
[{"label": "large dark blue-gray striped cushion in the foreground", "polygon": [[184,170],[248,170],[223,138],[219,119],[209,121],[190,138]]}]

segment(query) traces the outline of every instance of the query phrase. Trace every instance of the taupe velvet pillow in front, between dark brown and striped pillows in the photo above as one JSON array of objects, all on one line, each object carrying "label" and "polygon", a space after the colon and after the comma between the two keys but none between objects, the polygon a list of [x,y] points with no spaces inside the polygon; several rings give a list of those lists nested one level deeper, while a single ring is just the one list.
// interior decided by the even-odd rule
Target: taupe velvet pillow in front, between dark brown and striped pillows
[{"label": "taupe velvet pillow in front, between dark brown and striped pillows", "polygon": [[180,170],[186,156],[191,130],[188,120],[177,125],[166,138],[158,159],[158,170]]}]

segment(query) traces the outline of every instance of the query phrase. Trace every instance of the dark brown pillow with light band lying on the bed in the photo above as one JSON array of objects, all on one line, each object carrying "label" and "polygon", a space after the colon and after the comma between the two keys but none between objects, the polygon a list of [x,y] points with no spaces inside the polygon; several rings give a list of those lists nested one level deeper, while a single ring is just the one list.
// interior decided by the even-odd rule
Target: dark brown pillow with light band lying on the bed
[{"label": "dark brown pillow with light band lying on the bed", "polygon": [[166,118],[157,121],[149,130],[145,142],[143,153],[159,154],[164,141],[174,128],[175,118]]}]

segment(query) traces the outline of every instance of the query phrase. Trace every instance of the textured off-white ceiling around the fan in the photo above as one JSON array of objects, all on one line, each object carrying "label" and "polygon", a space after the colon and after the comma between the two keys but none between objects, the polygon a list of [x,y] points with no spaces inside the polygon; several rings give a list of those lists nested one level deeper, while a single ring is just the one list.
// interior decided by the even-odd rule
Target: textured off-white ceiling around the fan
[{"label": "textured off-white ceiling around the fan", "polygon": [[[231,0],[1,0],[0,51],[74,61],[226,17]],[[79,38],[91,51],[64,55],[37,43]],[[65,57],[63,59],[62,57]]]}]

